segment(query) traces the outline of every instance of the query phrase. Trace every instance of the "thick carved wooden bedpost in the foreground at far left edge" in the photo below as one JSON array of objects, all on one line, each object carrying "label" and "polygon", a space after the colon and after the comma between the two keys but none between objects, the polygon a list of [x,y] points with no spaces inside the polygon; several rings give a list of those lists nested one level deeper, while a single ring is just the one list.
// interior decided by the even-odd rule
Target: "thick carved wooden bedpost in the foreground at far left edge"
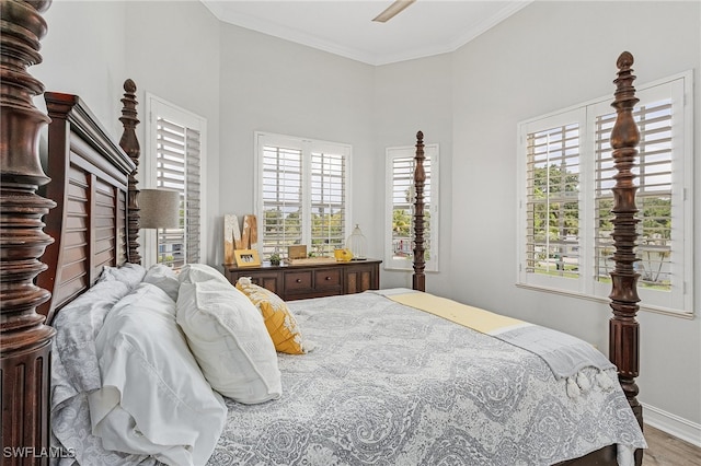
[{"label": "thick carved wooden bedpost in the foreground at far left edge", "polygon": [[[56,207],[36,194],[49,182],[39,162],[38,137],[48,117],[33,103],[44,86],[27,68],[39,63],[46,35],[42,13],[50,0],[0,2],[0,353],[2,362],[2,446],[41,452],[49,446],[50,341],[36,307],[50,293],[34,284],[47,267],[38,258],[54,241],[42,218]],[[34,448],[34,450],[30,450]],[[20,455],[3,465],[47,464]]]}]

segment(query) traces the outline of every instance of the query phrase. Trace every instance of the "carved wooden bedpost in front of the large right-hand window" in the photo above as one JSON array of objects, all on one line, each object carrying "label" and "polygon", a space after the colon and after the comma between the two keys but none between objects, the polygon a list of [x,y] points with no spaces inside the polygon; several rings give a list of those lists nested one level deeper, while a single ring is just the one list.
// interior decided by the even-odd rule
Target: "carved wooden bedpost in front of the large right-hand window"
[{"label": "carved wooden bedpost in front of the large right-hand window", "polygon": [[[616,253],[614,270],[611,272],[613,281],[611,308],[613,317],[609,323],[609,358],[618,366],[619,380],[628,401],[633,408],[637,422],[643,426],[643,408],[636,399],[639,389],[635,377],[639,375],[639,325],[635,321],[637,313],[637,277],[634,264],[637,233],[635,225],[635,191],[633,184],[635,175],[632,173],[637,155],[640,131],[633,120],[633,107],[637,103],[631,66],[633,56],[624,51],[618,58],[618,78],[616,84],[616,100],[611,104],[618,113],[616,124],[611,130],[611,148],[613,148],[613,163],[617,170],[613,190],[613,245]],[[641,453],[639,451],[637,453]],[[636,458],[641,459],[642,458]]]}]

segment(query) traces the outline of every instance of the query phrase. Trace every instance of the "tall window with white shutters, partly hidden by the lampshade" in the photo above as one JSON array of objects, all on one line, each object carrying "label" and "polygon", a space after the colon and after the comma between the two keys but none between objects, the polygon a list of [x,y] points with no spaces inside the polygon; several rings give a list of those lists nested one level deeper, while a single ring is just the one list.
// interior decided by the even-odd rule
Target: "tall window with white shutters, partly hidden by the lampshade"
[{"label": "tall window with white shutters, partly hidden by the lampshade", "polygon": [[202,261],[204,238],[204,176],[206,120],[154,95],[147,95],[148,147],[145,185],[177,190],[181,226],[142,231],[146,264],[175,269]]}]

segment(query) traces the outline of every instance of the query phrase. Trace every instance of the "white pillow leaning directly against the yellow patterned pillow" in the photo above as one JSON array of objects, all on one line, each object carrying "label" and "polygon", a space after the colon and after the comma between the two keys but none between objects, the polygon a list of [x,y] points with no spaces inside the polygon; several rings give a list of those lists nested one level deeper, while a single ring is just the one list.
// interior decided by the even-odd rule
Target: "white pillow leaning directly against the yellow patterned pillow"
[{"label": "white pillow leaning directly against the yellow patterned pillow", "polygon": [[182,283],[177,323],[214,389],[244,404],[280,396],[277,354],[263,317],[231,283]]}]

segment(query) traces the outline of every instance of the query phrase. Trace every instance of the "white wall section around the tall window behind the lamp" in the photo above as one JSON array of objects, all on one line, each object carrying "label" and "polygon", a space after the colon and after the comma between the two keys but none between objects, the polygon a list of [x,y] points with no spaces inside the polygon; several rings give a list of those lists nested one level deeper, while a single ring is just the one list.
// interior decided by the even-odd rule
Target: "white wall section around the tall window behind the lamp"
[{"label": "white wall section around the tall window behind the lamp", "polygon": [[[147,144],[146,92],[207,120],[205,177],[205,253],[217,264],[221,243],[219,218],[220,102],[219,21],[198,1],[127,1],[125,28],[127,71],[137,86],[141,125],[141,160]],[[143,170],[140,171],[145,173]],[[142,178],[139,178],[142,179]],[[145,186],[143,183],[139,185]],[[142,232],[153,234],[153,232]],[[143,242],[141,242],[143,243]]]}]

